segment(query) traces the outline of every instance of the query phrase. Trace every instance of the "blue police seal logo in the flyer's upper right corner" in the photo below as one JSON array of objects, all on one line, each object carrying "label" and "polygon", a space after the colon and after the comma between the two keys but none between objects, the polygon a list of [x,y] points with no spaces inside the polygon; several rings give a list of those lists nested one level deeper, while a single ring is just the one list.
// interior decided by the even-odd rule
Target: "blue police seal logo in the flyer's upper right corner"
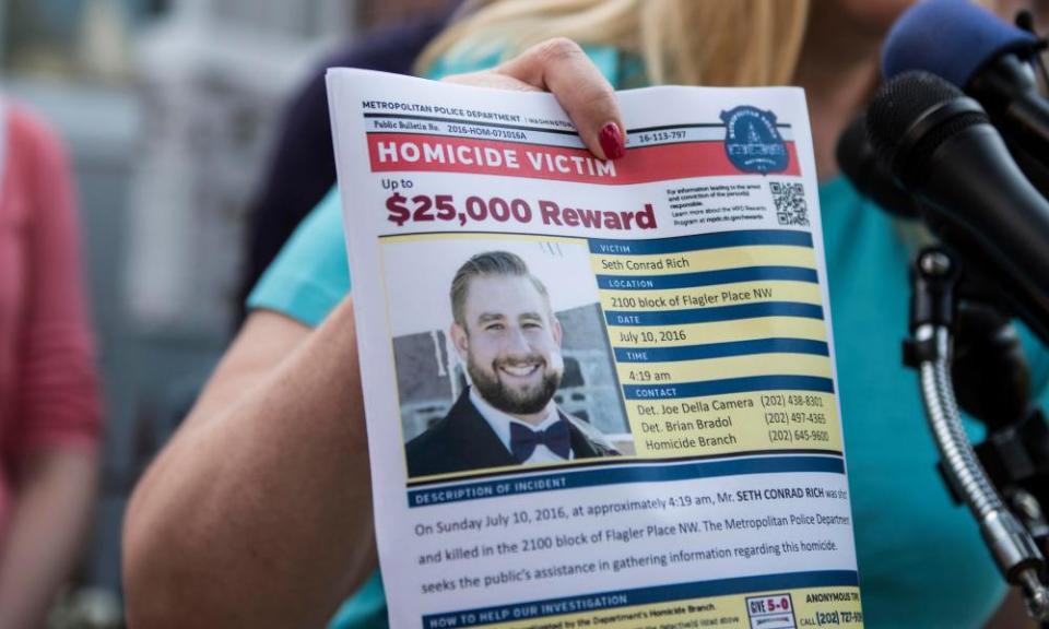
[{"label": "blue police seal logo in the flyer's upper right corner", "polygon": [[724,154],[744,173],[778,173],[787,169],[787,144],[776,129],[776,115],[751,105],[721,112],[727,133]]}]

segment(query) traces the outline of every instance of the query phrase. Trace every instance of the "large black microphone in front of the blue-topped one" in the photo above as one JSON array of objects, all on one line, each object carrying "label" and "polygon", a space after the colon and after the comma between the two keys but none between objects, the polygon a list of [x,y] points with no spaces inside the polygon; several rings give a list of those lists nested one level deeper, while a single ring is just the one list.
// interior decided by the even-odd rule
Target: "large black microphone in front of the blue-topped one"
[{"label": "large black microphone in front of the blue-topped one", "polygon": [[929,227],[1049,344],[1049,202],[979,104],[938,76],[905,72],[879,90],[867,128]]}]

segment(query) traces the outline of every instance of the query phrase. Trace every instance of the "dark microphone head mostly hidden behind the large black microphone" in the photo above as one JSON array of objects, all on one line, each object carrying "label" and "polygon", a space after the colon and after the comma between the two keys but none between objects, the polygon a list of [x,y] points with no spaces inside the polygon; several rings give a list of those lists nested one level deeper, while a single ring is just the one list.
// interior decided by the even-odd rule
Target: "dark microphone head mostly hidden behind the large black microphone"
[{"label": "dark microphone head mostly hidden behind the large black microphone", "polygon": [[917,218],[915,201],[893,180],[874,155],[867,137],[867,117],[857,116],[838,138],[834,152],[841,173],[852,186],[880,207],[897,218]]}]

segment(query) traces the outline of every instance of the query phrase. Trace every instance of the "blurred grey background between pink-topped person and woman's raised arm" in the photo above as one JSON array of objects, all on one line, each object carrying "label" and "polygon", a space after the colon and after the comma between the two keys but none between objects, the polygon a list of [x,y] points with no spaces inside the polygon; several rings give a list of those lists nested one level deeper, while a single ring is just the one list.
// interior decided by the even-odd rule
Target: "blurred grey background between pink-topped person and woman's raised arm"
[{"label": "blurred grey background between pink-topped person and woman's raised arm", "polygon": [[444,0],[0,0],[0,94],[69,151],[106,440],[50,627],[121,627],[120,525],[235,328],[246,223],[288,99],[333,50]]}]

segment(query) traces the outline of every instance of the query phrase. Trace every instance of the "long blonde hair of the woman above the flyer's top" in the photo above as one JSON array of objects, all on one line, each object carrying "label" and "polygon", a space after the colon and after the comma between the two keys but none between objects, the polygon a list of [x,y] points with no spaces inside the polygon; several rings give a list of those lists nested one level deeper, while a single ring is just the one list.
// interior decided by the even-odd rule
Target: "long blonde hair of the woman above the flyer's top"
[{"label": "long blonde hair of the woman above the flyer's top", "polygon": [[[650,83],[781,85],[794,73],[810,0],[474,0],[426,49],[509,59],[551,37],[637,55]],[[702,27],[700,27],[702,25]]]}]

